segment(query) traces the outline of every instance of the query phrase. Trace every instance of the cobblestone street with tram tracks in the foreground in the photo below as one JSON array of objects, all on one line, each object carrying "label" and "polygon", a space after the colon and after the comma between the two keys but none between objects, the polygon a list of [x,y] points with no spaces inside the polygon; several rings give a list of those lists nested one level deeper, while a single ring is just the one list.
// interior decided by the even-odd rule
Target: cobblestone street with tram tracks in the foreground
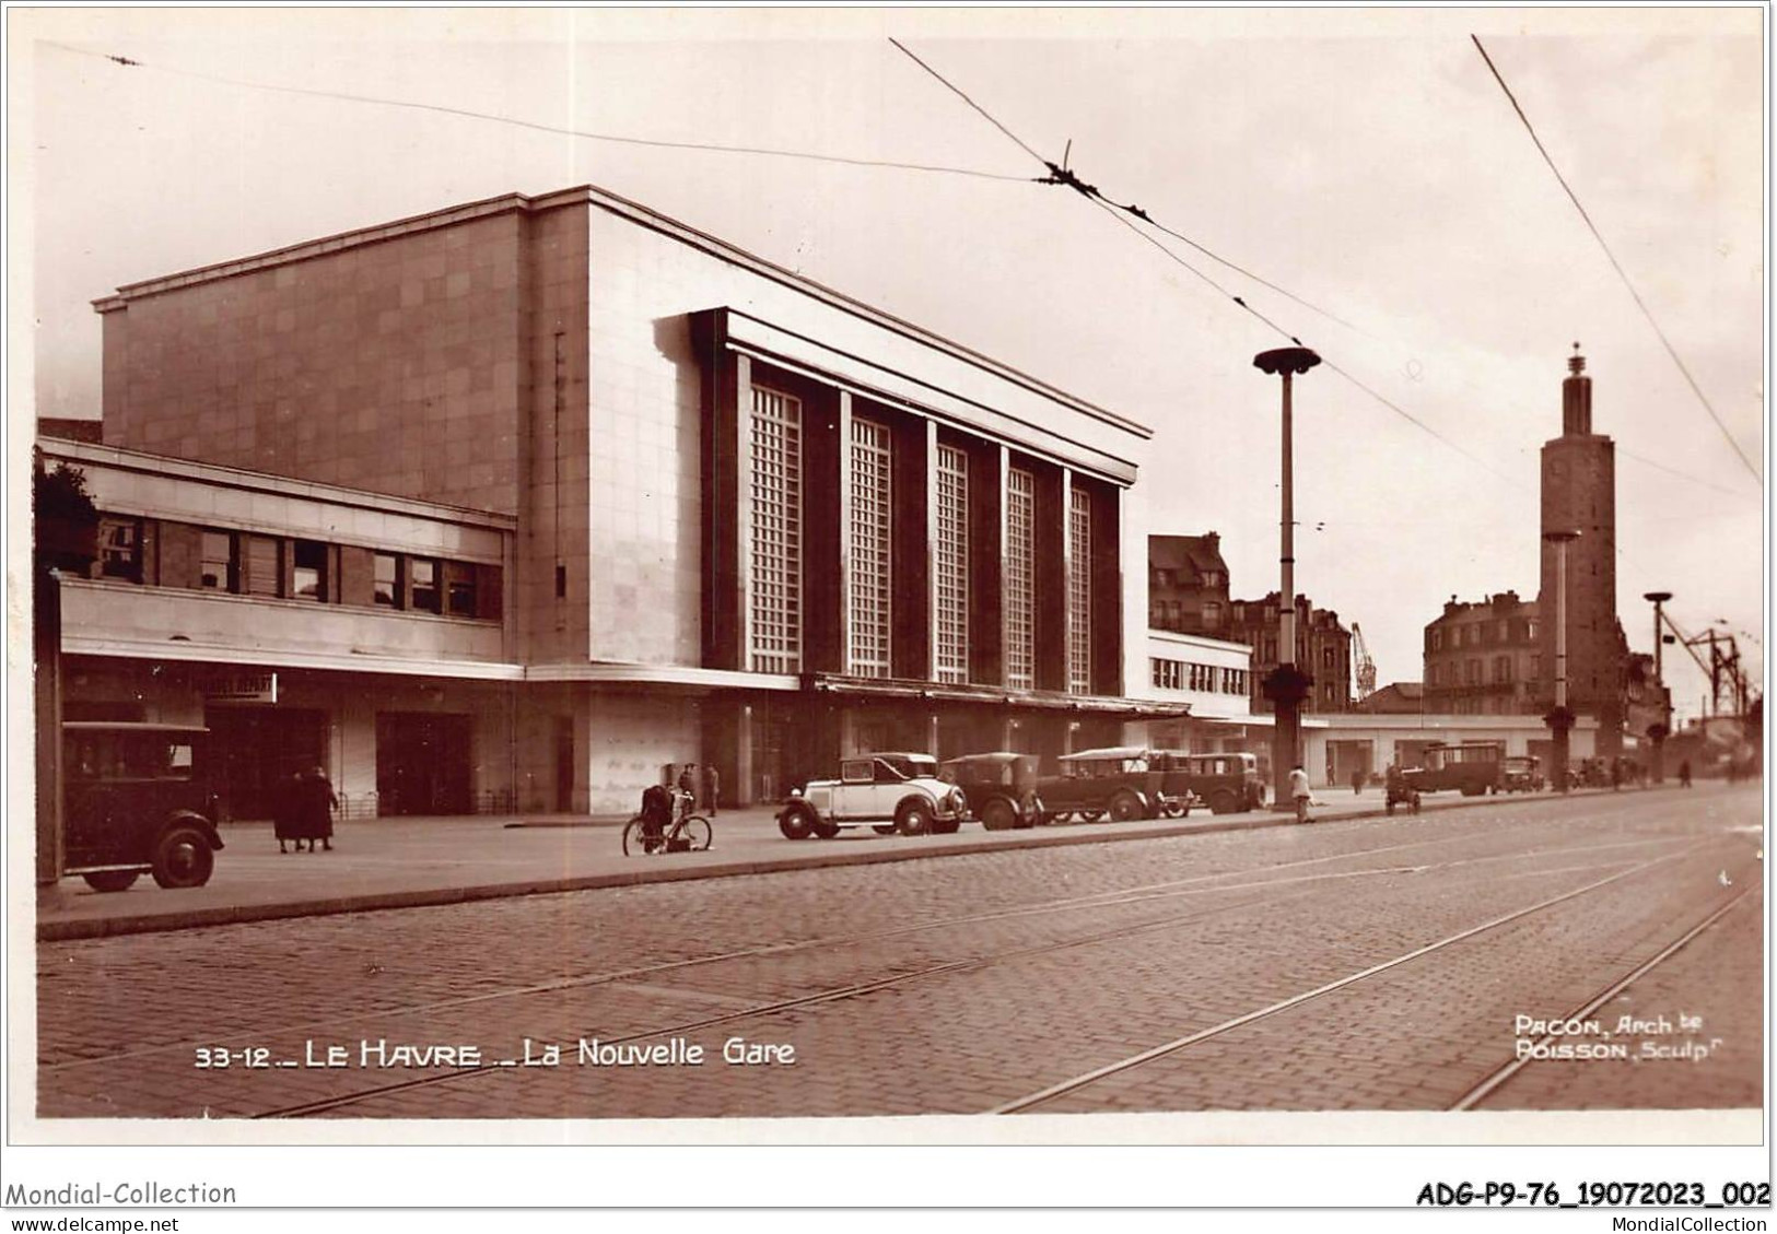
[{"label": "cobblestone street with tram tracks in the foreground", "polygon": [[37,1106],[1448,1110],[1542,1037],[1519,1017],[1596,1019],[1630,1058],[1528,1060],[1477,1108],[1757,1106],[1759,804],[1546,799],[41,943]]}]

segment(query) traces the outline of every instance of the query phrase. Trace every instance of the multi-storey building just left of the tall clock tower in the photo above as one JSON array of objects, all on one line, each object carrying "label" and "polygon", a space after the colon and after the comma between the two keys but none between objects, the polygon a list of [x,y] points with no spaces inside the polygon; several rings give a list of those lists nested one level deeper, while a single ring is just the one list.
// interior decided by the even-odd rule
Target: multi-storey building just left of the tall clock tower
[{"label": "multi-storey building just left of the tall clock tower", "polygon": [[1541,716],[1542,636],[1535,600],[1500,591],[1445,604],[1425,627],[1425,710],[1446,716]]}]

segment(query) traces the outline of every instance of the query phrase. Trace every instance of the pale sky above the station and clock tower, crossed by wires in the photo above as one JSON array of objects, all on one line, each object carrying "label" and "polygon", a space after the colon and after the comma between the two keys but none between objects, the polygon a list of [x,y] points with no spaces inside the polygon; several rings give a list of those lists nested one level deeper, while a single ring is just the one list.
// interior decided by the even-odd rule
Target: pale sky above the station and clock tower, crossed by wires
[{"label": "pale sky above the station and clock tower, crossed by wires", "polygon": [[[1301,337],[1327,366],[1295,392],[1297,589],[1361,625],[1383,684],[1420,678],[1448,597],[1535,595],[1578,341],[1631,646],[1665,589],[1763,673],[1756,7],[7,18],[14,407],[98,415],[91,302],[121,284],[594,183],[1151,426],[1128,517],[1219,531],[1237,597],[1278,575],[1278,384],[1251,359]],[[1020,144],[1191,243],[1034,183]],[[1667,678],[1695,714],[1681,648]]]}]

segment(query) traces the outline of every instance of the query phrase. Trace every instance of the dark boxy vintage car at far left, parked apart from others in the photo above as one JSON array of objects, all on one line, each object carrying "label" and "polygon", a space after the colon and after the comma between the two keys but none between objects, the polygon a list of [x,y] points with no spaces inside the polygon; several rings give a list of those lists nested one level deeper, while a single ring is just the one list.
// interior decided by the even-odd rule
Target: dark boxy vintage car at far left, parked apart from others
[{"label": "dark boxy vintage car at far left, parked apart from others", "polygon": [[144,872],[201,888],[222,849],[217,799],[197,774],[210,730],[190,724],[62,724],[64,874],[123,891]]}]

